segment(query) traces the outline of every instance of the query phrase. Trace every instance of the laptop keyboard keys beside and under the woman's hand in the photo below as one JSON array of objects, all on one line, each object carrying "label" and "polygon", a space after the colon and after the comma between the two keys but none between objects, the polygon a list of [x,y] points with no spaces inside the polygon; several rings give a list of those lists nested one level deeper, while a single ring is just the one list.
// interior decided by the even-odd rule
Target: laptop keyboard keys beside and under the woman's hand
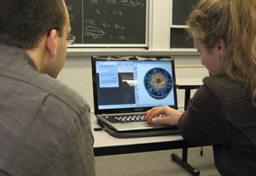
[{"label": "laptop keyboard keys beside and under the woman's hand", "polygon": [[[120,123],[120,122],[146,122],[146,115],[119,115],[119,116],[104,116],[109,122]],[[160,115],[157,117],[164,117],[164,115]]]}]

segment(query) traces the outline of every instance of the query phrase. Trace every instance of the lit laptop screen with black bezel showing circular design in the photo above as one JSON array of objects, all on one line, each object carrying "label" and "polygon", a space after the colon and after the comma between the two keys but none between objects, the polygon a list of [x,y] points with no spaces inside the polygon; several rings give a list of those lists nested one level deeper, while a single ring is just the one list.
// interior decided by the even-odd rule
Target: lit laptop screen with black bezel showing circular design
[{"label": "lit laptop screen with black bezel showing circular design", "polygon": [[172,58],[92,57],[96,111],[177,108]]}]

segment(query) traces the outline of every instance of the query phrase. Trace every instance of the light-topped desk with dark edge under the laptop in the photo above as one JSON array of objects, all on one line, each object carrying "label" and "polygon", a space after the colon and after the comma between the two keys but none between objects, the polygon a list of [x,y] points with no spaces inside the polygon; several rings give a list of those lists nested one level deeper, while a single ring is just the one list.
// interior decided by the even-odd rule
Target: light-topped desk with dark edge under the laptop
[{"label": "light-topped desk with dark edge under the laptop", "polygon": [[100,126],[96,122],[96,116],[92,113],[90,116],[92,132],[95,138],[95,156],[108,156],[192,147],[186,141],[184,141],[183,137],[179,134],[128,139],[115,138],[105,131],[94,131],[94,128],[99,128]]}]

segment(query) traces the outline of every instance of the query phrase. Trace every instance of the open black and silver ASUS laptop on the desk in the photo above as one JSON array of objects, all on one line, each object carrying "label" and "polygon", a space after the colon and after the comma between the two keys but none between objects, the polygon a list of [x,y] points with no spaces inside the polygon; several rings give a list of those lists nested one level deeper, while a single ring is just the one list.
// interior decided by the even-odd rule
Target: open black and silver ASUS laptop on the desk
[{"label": "open black and silver ASUS laptop on the desk", "polygon": [[91,65],[97,122],[114,132],[173,128],[143,120],[155,106],[177,109],[173,57],[92,56]]}]

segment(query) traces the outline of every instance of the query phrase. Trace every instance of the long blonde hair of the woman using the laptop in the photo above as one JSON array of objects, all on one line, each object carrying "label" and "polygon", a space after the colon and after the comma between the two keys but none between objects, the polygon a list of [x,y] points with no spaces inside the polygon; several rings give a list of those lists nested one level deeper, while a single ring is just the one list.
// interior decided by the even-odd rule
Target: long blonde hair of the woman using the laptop
[{"label": "long blonde hair of the woman using the laptop", "polygon": [[207,48],[224,40],[224,71],[250,88],[256,105],[256,0],[201,0],[187,25]]}]

